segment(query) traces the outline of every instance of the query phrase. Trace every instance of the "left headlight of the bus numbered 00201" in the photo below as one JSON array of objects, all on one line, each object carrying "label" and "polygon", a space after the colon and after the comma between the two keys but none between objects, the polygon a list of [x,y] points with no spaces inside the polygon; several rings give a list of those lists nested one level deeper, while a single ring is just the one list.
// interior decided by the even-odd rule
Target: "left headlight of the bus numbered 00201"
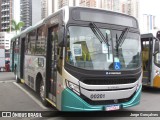
[{"label": "left headlight of the bus numbered 00201", "polygon": [[80,95],[80,90],[79,90],[79,86],[66,80],[66,85],[68,88],[70,88],[72,91],[74,91],[75,93],[77,93],[78,95]]}]

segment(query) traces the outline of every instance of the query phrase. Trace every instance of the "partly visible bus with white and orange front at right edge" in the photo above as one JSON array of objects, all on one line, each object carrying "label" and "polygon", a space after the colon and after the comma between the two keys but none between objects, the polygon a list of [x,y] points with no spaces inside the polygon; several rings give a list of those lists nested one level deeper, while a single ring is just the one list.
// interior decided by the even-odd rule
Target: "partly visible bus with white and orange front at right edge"
[{"label": "partly visible bus with white and orange front at right edge", "polygon": [[145,87],[160,88],[160,31],[141,35],[143,80]]}]

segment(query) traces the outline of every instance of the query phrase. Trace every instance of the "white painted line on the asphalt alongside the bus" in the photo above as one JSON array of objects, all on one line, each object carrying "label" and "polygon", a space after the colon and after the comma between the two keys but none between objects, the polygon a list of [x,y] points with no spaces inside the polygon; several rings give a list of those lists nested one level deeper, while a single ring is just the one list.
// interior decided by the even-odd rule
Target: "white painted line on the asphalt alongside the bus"
[{"label": "white painted line on the asphalt alongside the bus", "polygon": [[38,99],[36,99],[34,96],[32,96],[28,91],[26,91],[23,87],[18,85],[16,82],[13,82],[17,87],[19,87],[23,92],[25,92],[32,100],[34,100],[41,108],[48,109],[45,107]]}]

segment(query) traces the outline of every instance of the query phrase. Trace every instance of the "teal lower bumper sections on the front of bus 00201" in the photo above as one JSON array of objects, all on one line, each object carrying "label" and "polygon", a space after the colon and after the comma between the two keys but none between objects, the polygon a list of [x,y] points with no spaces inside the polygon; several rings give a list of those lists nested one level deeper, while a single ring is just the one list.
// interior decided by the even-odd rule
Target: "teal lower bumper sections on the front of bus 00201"
[{"label": "teal lower bumper sections on the front of bus 00201", "polygon": [[[118,105],[121,108],[128,108],[138,105],[140,103],[141,90],[142,85],[139,87],[139,90],[130,101],[120,103]],[[105,107],[106,105],[89,105],[68,88],[62,92],[62,111],[104,111]]]}]

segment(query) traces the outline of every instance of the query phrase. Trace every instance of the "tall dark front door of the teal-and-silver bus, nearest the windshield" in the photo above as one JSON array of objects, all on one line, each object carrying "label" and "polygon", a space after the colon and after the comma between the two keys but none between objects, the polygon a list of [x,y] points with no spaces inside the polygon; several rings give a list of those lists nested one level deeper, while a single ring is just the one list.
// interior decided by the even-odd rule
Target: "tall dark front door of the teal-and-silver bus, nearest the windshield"
[{"label": "tall dark front door of the teal-and-silver bus, nearest the windshield", "polygon": [[48,29],[47,86],[49,98],[56,103],[58,25]]}]

